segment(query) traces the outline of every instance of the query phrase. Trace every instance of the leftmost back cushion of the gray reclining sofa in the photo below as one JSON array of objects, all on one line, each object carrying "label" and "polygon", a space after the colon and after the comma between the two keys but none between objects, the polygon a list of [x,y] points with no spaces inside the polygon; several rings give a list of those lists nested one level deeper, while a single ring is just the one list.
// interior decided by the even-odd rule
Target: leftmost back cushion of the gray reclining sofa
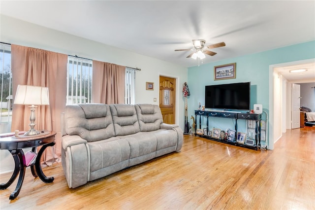
[{"label": "leftmost back cushion of the gray reclining sofa", "polygon": [[68,135],[78,135],[88,142],[113,137],[115,132],[109,105],[67,105],[65,132]]}]

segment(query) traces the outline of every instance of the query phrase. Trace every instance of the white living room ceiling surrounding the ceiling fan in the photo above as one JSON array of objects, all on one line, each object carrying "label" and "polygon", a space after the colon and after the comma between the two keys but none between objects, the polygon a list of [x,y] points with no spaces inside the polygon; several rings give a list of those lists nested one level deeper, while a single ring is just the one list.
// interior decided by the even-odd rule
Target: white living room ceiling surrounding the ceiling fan
[{"label": "white living room ceiling surrounding the ceiling fan", "polygon": [[203,63],[315,40],[314,0],[0,0],[0,13],[184,67],[198,62],[174,50],[191,39],[226,43]]}]

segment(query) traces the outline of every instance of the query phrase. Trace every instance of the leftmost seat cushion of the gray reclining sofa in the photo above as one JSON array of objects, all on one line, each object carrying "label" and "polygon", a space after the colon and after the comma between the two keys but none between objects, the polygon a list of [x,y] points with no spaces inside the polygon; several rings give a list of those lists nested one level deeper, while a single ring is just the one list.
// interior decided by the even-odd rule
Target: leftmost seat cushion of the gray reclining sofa
[{"label": "leftmost seat cushion of the gray reclining sofa", "polygon": [[117,137],[89,142],[87,146],[90,151],[91,173],[126,161],[130,156],[128,141]]}]

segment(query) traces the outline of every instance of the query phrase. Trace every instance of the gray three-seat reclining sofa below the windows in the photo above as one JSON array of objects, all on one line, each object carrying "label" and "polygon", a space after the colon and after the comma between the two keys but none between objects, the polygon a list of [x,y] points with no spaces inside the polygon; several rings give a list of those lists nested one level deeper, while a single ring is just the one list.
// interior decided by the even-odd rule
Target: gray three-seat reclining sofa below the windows
[{"label": "gray three-seat reclining sofa below the windows", "polygon": [[62,165],[69,188],[177,151],[178,125],[163,123],[158,105],[67,105]]}]

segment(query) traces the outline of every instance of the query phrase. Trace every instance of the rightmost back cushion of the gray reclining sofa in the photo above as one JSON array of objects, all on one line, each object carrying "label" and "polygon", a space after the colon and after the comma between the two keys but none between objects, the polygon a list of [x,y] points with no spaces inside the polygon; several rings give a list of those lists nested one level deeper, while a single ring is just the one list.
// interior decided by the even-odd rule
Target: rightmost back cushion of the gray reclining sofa
[{"label": "rightmost back cushion of the gray reclining sofa", "polygon": [[163,123],[163,117],[158,105],[135,105],[141,132],[156,131]]}]

